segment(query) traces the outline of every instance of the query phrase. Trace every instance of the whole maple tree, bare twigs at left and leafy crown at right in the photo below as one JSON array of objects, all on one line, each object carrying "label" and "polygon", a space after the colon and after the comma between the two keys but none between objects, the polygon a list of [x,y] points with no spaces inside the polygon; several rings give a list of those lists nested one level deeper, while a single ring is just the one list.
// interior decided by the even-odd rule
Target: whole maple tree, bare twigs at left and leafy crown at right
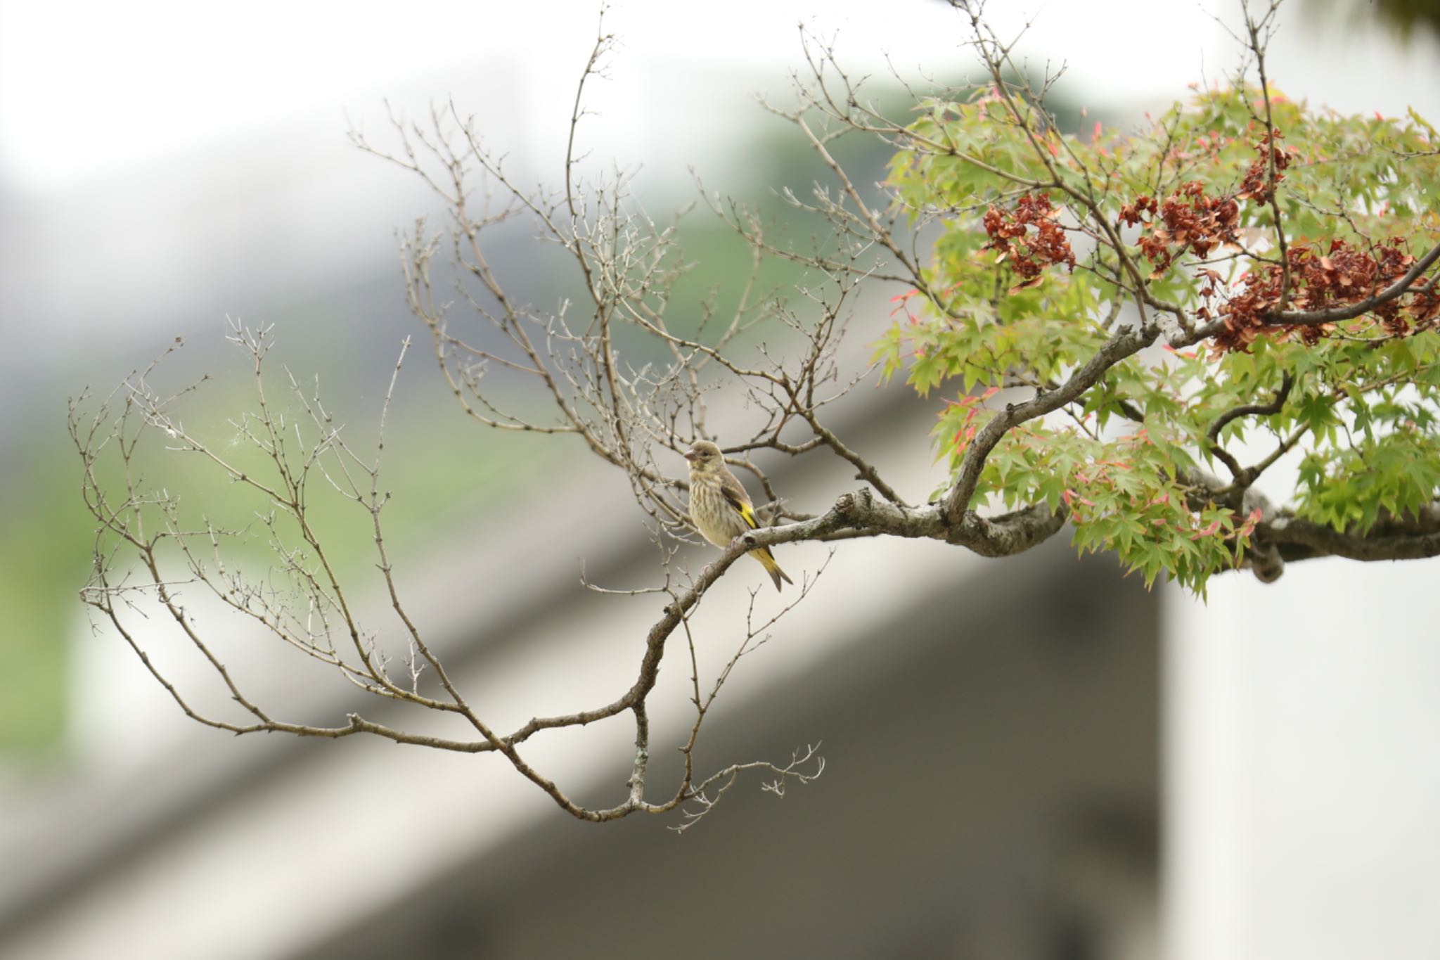
[{"label": "whole maple tree, bare twigs at left and leafy crown at right", "polygon": [[[157,389],[156,367],[98,410],[72,404],[84,492],[98,521],[85,600],[200,723],[497,753],[567,813],[612,820],[681,805],[703,815],[744,770],[773,774],[776,792],[815,776],[814,748],[710,776],[694,767],[703,721],[732,668],[815,583],[814,571],[798,577],[798,597],[782,597],[770,617],[756,613],[752,596],[734,655],[713,682],[703,681],[691,617],[756,547],[893,535],[1007,556],[1068,527],[1080,550],[1113,551],[1146,584],[1165,574],[1197,593],[1237,567],[1273,580],[1286,563],[1309,557],[1440,554],[1436,130],[1414,112],[1345,117],[1280,95],[1264,65],[1270,3],[1244,7],[1248,60],[1234,82],[1194,89],[1138,132],[1102,124],[1066,132],[1045,108],[1054,78],[1028,82],[1014,45],[996,39],[978,6],[952,6],[988,82],[913,98],[917,112],[904,119],[870,105],[832,49],[806,35],[809,72],[798,76],[796,104],[769,107],[828,177],[811,194],[785,191],[783,200],[828,232],[802,249],[770,236],[766,217],[707,194],[711,212],[743,239],[750,268],[726,278],[727,299],[707,296],[698,309],[678,292],[690,261],[677,230],[632,203],[625,174],[599,184],[577,176],[583,88],[613,42],[603,27],[576,94],[562,189],[521,187],[504,154],[454,105],[436,108],[428,125],[393,117],[396,150],[351,134],[361,150],[418,176],[446,207],[448,230],[419,223],[402,261],[409,307],[464,413],[487,429],[583,442],[624,472],[649,518],[660,586],[602,590],[665,597],[642,642],[635,638],[638,665],[618,695],[575,712],[537,711],[508,730],[482,717],[393,576],[382,522],[390,502],[380,485],[383,445],[363,455],[354,433],[341,433],[318,394],[292,376],[268,393],[271,341],[243,328],[232,338],[248,354],[258,409],[230,422],[230,442],[187,429],[176,410],[194,387]],[[844,137],[887,147],[883,200],[837,158]],[[490,259],[492,230],[517,217],[569,258],[576,299],[544,311],[507,288]],[[471,325],[451,317],[449,291],[436,291],[444,249]],[[798,307],[760,292],[769,262],[805,272]],[[894,320],[855,334],[847,324],[860,291],[877,284],[899,291]],[[857,335],[873,347],[873,366],[857,367],[857,351],[840,350]],[[624,361],[621,343],[631,351]],[[831,403],[876,367],[884,380],[942,397],[935,442],[949,475],[922,502],[906,499],[886,478],[887,465],[832,420]],[[508,380],[497,386],[491,370]],[[395,384],[392,374],[384,409]],[[531,393],[517,399],[520,389]],[[723,412],[723,448],[763,494],[756,508],[766,522],[691,576],[672,563],[678,543],[693,540],[681,453],[717,439],[719,397],[744,402]],[[179,494],[143,479],[156,449],[145,438],[209,465],[238,491],[228,499],[255,501],[269,569],[252,574],[228,557],[245,530],[187,515]],[[841,492],[824,512],[802,512],[816,492],[782,497],[753,456],[760,450],[835,456],[864,486]],[[1267,495],[1261,482],[1283,489]],[[333,561],[350,551],[315,522],[325,497],[360,511],[382,590],[356,587],[359,574]],[[586,501],[576,524],[592,515]],[[127,570],[122,558],[134,566]],[[360,712],[333,725],[279,718],[248,695],[187,609],[180,590],[196,583],[374,702],[458,717],[465,733],[432,735]],[[364,626],[354,599],[361,590],[387,599],[389,629]],[[148,658],[148,635],[134,626],[137,603],[157,607],[200,651],[230,714],[193,702]],[[688,652],[694,717],[677,746],[683,774],[654,797],[649,698],[667,645]],[[625,796],[612,806],[583,806],[523,756],[531,738],[625,714],[635,753]]]}]

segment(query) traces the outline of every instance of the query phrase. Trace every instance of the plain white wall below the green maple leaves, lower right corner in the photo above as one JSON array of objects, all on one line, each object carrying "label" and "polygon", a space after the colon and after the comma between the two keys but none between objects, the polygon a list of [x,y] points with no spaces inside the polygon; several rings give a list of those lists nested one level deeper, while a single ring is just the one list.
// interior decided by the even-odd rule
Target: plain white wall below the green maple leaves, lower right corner
[{"label": "plain white wall below the green maple leaves, lower right corner", "polygon": [[1440,560],[1171,592],[1171,960],[1440,957]]}]

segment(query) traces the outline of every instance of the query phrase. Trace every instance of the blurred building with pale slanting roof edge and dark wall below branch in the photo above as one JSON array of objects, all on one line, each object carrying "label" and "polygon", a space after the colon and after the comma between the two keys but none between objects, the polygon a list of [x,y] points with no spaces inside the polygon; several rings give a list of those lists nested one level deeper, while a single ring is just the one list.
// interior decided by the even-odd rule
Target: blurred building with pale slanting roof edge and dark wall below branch
[{"label": "blurred building with pale slanting roof edge and dark wall below branch", "polygon": [[[488,545],[514,535],[491,530]],[[678,816],[596,826],[488,754],[187,730],[125,776],[12,815],[0,954],[1155,956],[1153,594],[1060,544],[996,564],[860,547],[740,662],[707,720],[700,757],[716,764],[822,741],[824,776],[783,799],[749,776],[681,835],[667,829]],[[629,554],[611,579],[652,563],[648,544]],[[527,593],[490,579],[494,558],[451,560],[442,593],[469,626],[444,646],[481,711],[484,691],[605,671],[596,645],[622,675],[635,661],[644,612],[609,620],[570,576]],[[868,576],[877,563],[914,574]],[[461,586],[468,571],[488,587]],[[747,573],[711,596],[744,597]],[[665,679],[687,666],[677,636]],[[657,727],[684,720],[684,689],[657,689]],[[374,710],[325,714],[346,708]],[[534,761],[615,802],[632,733],[606,723],[537,743]],[[657,793],[674,774],[657,746]]]}]

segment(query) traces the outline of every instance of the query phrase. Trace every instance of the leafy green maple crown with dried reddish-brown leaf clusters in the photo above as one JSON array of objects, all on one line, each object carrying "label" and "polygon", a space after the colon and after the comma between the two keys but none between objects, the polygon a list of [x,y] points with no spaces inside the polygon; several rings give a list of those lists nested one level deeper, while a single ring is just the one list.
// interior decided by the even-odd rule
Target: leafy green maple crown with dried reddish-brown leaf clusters
[{"label": "leafy green maple crown with dried reddish-brown leaf clusters", "polygon": [[[959,387],[952,510],[1068,514],[1081,548],[1192,590],[1440,553],[1440,142],[1413,111],[1286,99],[1273,16],[1247,23],[1253,82],[1083,135],[975,19],[992,83],[924,101],[891,163],[942,233],[880,348],[920,393]],[[1256,485],[1292,452],[1277,505]]]}]

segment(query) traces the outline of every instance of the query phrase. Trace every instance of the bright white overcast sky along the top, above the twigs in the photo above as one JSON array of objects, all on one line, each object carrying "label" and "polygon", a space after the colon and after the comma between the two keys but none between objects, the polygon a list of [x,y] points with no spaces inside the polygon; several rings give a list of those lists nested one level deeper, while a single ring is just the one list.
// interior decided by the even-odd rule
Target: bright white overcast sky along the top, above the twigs
[{"label": "bright white overcast sky along the top, above the twigs", "polygon": [[[1077,83],[1099,98],[1184,89],[1214,30],[1205,6],[1165,14],[1178,43],[1136,42],[1156,4],[995,3],[1018,29],[1034,14],[1037,58],[1066,50]],[[0,163],[26,189],[73,186],[115,167],[233,137],[311,111],[364,107],[448,72],[501,62],[500,92],[563,102],[595,36],[598,3],[419,0],[243,4],[193,0],[4,0],[0,3]],[[615,81],[672,66],[780,76],[799,60],[796,24],[838,32],[847,60],[924,65],[950,73],[963,39],[939,0],[732,0],[723,6],[619,0],[608,27],[622,37]],[[1116,69],[1115,45],[1125,45]],[[1205,43],[1210,46],[1210,43]],[[444,94],[446,91],[438,91]],[[624,124],[624,114],[609,121]]]}]

